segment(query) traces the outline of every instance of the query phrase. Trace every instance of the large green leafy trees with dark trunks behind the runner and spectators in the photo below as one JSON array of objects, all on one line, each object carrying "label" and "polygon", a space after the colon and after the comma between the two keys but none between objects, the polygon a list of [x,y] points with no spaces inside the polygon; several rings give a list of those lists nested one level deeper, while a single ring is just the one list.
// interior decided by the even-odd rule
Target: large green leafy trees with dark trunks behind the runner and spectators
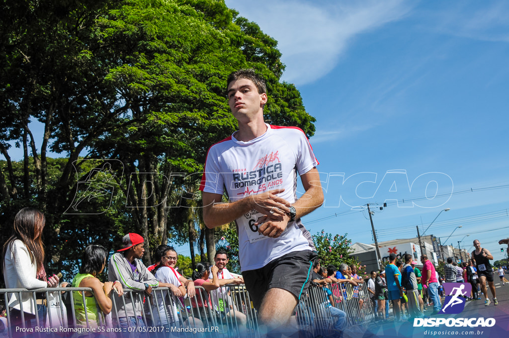
[{"label": "large green leafy trees with dark trunks behind the runner and spectators", "polygon": [[[271,123],[315,131],[298,90],[279,81],[277,42],[223,1],[0,7],[0,223],[8,226],[22,206],[43,210],[54,270],[71,273],[85,245],[114,248],[128,231],[148,241],[147,263],[160,243],[196,243],[203,225],[195,188],[207,149],[236,128],[224,93],[231,71],[254,68],[267,78]],[[13,146],[22,161],[11,159]],[[94,191],[104,194],[90,195],[98,168],[102,188]],[[203,234],[213,250],[214,233]]]}]

